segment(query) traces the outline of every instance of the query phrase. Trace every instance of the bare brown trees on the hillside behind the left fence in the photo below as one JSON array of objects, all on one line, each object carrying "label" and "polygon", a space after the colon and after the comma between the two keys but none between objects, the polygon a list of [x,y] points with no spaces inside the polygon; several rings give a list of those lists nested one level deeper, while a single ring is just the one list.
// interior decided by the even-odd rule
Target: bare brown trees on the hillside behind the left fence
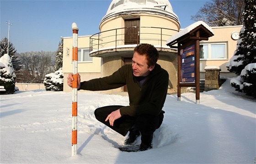
[{"label": "bare brown trees on the hillside behind the left fence", "polygon": [[30,51],[19,54],[22,69],[16,82],[42,83],[45,75],[54,72],[55,52]]}]

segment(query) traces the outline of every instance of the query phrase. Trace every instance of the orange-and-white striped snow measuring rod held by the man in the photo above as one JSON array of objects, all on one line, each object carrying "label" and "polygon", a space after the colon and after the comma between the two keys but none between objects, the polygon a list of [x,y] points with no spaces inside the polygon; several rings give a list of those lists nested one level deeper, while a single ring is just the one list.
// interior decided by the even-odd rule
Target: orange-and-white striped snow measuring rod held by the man
[{"label": "orange-and-white striped snow measuring rod held by the man", "polygon": [[77,154],[77,46],[78,46],[78,27],[76,23],[72,24],[73,30],[73,50],[72,50],[72,61],[73,61],[73,91],[72,91],[72,156]]}]

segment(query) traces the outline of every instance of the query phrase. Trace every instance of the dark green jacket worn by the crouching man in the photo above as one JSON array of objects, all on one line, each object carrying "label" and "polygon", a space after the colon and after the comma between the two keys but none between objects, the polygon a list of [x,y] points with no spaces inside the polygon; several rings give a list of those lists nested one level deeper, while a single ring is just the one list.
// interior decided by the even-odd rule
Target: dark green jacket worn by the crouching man
[{"label": "dark green jacket worn by the crouching man", "polygon": [[137,77],[133,76],[132,65],[124,65],[108,77],[81,82],[80,89],[103,91],[127,85],[129,106],[120,108],[121,115],[138,116],[150,114],[157,116],[164,113],[162,108],[168,89],[169,75],[160,65],[149,73],[142,87]]}]

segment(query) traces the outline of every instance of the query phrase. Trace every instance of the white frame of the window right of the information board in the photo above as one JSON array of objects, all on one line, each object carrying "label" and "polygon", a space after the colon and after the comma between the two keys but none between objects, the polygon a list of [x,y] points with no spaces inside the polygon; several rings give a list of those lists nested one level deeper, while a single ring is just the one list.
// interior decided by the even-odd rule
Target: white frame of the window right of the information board
[{"label": "white frame of the window right of the information board", "polygon": [[[207,45],[208,46],[208,58],[200,58],[200,61],[207,61],[207,60],[229,60],[228,59],[228,42],[201,42],[200,46]],[[211,46],[212,45],[224,45],[225,47],[225,56],[224,58],[211,58]]]}]

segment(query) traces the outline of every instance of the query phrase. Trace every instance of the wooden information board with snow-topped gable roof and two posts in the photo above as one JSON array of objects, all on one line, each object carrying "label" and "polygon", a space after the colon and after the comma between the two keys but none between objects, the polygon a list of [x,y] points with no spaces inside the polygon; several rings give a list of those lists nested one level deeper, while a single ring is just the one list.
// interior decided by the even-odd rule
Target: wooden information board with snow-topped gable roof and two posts
[{"label": "wooden information board with snow-topped gable roof and two posts", "polygon": [[167,46],[178,49],[178,101],[181,101],[181,87],[196,87],[196,103],[200,103],[199,42],[208,41],[211,36],[211,28],[203,21],[198,21],[167,41]]}]

